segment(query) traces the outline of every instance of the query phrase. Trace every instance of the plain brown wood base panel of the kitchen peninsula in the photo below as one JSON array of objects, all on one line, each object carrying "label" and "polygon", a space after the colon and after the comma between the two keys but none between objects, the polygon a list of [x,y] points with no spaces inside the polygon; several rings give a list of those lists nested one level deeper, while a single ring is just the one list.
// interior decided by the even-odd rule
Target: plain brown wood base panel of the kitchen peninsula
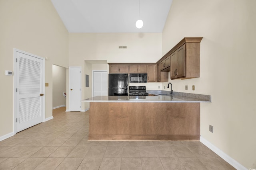
[{"label": "plain brown wood base panel of the kitchen peninsula", "polygon": [[90,102],[89,140],[199,140],[200,103]]}]

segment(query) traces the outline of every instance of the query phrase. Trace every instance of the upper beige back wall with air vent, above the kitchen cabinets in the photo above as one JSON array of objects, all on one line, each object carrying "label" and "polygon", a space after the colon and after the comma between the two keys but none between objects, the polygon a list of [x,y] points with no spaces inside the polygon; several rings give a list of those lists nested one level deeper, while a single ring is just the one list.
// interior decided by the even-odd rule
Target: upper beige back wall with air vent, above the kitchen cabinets
[{"label": "upper beige back wall with air vent, above the kitchen cabinets", "polygon": [[162,33],[70,33],[69,56],[70,66],[82,66],[84,60],[156,63],[162,57]]}]

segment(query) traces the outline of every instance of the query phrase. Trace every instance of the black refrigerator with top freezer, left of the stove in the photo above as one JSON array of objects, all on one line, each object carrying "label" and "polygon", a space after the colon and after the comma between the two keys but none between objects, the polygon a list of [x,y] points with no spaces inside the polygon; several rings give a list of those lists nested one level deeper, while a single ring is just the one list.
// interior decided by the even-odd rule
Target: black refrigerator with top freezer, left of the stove
[{"label": "black refrigerator with top freezer, left of the stove", "polygon": [[108,96],[128,96],[128,74],[108,74]]}]

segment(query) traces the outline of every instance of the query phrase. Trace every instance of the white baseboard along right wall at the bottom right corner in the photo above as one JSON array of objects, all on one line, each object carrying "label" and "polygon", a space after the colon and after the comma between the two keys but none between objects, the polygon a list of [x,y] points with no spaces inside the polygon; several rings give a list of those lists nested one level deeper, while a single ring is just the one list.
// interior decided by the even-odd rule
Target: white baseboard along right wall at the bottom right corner
[{"label": "white baseboard along right wall at the bottom right corner", "polygon": [[226,162],[228,162],[230,165],[234,166],[234,168],[238,170],[248,170],[244,166],[242,166],[239,162],[228,156],[226,153],[224,153],[222,150],[218,149],[216,146],[212,145],[209,141],[204,139],[203,137],[200,137],[200,142],[202,142],[206,147],[208,147],[210,150],[214,151],[216,154],[218,154],[222,159],[224,159]]}]

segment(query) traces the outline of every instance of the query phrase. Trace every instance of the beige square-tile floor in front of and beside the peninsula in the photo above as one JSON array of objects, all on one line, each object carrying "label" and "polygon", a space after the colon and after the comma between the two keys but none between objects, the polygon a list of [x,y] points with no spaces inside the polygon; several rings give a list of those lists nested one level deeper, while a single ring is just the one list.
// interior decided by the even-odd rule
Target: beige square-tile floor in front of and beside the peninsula
[{"label": "beige square-tile floor in front of and beside the peninsula", "polygon": [[235,170],[199,141],[88,141],[89,111],[53,110],[0,142],[0,170]]}]

